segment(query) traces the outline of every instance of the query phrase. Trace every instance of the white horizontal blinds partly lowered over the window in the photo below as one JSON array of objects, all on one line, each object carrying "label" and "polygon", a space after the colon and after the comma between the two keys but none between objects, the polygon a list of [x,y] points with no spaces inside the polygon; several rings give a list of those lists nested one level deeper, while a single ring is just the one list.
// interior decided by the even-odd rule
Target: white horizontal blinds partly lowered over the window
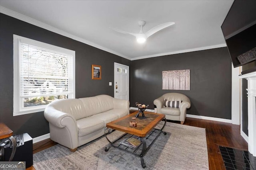
[{"label": "white horizontal blinds partly lowered over the window", "polygon": [[20,97],[73,93],[72,56],[20,43]]}]

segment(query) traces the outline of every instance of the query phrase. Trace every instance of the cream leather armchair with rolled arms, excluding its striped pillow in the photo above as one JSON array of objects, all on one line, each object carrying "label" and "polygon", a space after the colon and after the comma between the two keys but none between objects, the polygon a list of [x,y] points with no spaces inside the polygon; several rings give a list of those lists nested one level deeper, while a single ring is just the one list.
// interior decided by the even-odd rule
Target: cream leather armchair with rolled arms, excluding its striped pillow
[{"label": "cream leather armchair with rolled arms, excluding its striped pillow", "polygon": [[[175,107],[164,107],[164,100],[168,101],[182,101],[179,108]],[[157,113],[166,115],[166,119],[180,121],[183,124],[186,119],[186,110],[190,108],[190,100],[187,96],[180,93],[166,93],[160,98],[154,100],[156,105]]]}]

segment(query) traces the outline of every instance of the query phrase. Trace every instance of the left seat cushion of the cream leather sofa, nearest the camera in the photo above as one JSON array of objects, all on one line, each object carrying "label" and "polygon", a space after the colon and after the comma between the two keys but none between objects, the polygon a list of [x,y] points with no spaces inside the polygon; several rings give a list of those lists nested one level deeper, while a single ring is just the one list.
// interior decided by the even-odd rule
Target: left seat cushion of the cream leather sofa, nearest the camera
[{"label": "left seat cushion of the cream leather sofa, nearest the camera", "polygon": [[79,119],[76,123],[78,128],[78,137],[88,135],[105,127],[104,121],[92,117]]}]

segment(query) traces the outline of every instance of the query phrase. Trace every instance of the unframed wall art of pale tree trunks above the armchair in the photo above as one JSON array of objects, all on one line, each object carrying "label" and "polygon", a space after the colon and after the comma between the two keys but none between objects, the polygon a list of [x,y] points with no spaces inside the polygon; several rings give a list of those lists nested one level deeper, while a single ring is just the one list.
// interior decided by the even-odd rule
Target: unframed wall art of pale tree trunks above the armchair
[{"label": "unframed wall art of pale tree trunks above the armchair", "polygon": [[190,70],[163,71],[163,90],[190,90]]}]

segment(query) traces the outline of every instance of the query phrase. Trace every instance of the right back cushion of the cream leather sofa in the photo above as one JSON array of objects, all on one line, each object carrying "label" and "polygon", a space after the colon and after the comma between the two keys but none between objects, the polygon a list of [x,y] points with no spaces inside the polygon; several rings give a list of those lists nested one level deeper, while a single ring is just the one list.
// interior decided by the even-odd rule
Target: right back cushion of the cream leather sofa
[{"label": "right back cushion of the cream leather sofa", "polygon": [[88,98],[80,98],[85,108],[85,116],[88,117],[114,108],[113,98],[108,95],[98,95]]}]

